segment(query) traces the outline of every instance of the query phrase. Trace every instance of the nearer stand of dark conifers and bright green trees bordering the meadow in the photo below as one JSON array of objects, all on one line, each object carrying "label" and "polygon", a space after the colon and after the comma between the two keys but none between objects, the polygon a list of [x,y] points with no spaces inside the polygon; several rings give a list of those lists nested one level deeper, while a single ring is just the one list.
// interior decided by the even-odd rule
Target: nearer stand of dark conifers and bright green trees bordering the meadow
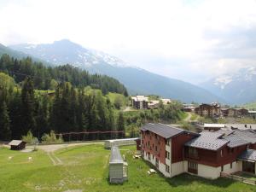
[{"label": "nearer stand of dark conifers and bright green trees bordering the meadow", "polygon": [[33,79],[20,84],[0,73],[0,141],[20,139],[28,131],[40,138],[55,131],[120,131],[107,134],[84,134],[64,140],[92,140],[124,137],[122,113],[114,113],[113,104],[102,90],[57,84],[55,91],[35,90]]}]

